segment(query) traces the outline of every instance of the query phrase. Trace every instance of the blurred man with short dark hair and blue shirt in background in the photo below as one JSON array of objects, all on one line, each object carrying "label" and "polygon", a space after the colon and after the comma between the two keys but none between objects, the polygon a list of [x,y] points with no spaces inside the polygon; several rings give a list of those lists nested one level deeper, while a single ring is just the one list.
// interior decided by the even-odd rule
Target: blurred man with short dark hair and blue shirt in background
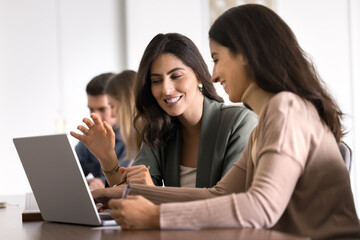
[{"label": "blurred man with short dark hair and blue shirt in background", "polygon": [[[125,145],[121,139],[116,119],[111,117],[111,108],[109,106],[107,96],[104,93],[107,81],[114,76],[114,73],[103,73],[91,79],[86,86],[87,102],[90,113],[94,112],[98,114],[102,121],[106,121],[113,126],[115,131],[115,152],[119,160],[119,165],[127,167],[128,161],[124,161],[124,157],[126,155]],[[84,175],[87,176],[90,189],[94,190],[107,186],[105,176],[97,158],[82,142],[79,142],[76,145],[75,151],[79,158]]]}]

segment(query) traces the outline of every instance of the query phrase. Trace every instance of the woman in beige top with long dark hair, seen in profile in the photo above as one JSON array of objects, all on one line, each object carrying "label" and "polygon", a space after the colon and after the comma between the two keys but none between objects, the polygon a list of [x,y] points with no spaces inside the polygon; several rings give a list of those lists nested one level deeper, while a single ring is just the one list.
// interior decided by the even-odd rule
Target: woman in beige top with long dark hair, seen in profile
[{"label": "woman in beige top with long dark hair, seen in profile", "polygon": [[[213,188],[131,184],[126,199],[108,202],[111,216],[125,229],[269,228],[358,239],[349,173],[337,145],[342,113],[291,29],[264,6],[242,5],[221,15],[209,37],[213,81],[259,115],[251,141]],[[119,198],[123,190],[93,196]]]}]

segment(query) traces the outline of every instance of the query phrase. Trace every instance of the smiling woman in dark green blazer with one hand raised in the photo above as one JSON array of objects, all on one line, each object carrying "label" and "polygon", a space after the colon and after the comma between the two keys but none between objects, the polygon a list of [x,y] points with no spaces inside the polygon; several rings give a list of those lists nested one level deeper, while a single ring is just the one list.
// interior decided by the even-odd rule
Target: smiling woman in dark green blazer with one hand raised
[{"label": "smiling woman in dark green blazer with one hand raised", "polygon": [[100,160],[109,185],[212,187],[241,156],[257,124],[243,105],[224,105],[199,50],[181,34],[158,34],[148,44],[135,99],[143,144],[133,167],[119,170],[108,124],[85,118],[84,135],[71,133]]}]

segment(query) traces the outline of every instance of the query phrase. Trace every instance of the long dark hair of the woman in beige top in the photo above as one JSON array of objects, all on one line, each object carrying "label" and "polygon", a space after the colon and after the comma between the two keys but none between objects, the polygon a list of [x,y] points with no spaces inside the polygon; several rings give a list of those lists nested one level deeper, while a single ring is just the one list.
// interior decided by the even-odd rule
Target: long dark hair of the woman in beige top
[{"label": "long dark hair of the woman in beige top", "polygon": [[214,22],[209,38],[234,54],[241,53],[260,88],[293,92],[310,101],[336,140],[341,140],[343,113],[290,27],[275,12],[257,4],[231,8]]}]

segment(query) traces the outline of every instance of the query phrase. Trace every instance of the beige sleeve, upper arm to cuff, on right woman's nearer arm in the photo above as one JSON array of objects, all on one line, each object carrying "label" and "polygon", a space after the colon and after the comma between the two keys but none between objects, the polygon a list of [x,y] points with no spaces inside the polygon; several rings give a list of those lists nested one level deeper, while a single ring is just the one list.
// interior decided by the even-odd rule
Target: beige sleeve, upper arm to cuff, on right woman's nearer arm
[{"label": "beige sleeve, upper arm to cuff, on right woman's nearer arm", "polygon": [[285,210],[300,174],[301,166],[288,156],[264,155],[247,192],[162,204],[161,228],[270,228]]}]

